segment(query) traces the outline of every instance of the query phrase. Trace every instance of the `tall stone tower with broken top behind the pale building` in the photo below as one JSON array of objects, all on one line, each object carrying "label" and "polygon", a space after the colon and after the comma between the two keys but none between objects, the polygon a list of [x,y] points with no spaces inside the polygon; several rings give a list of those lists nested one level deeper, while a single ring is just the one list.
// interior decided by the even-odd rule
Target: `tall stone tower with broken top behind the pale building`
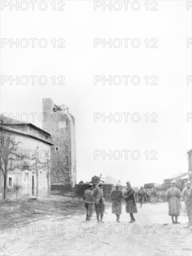
[{"label": "tall stone tower with broken top behind the pale building", "polygon": [[63,104],[54,104],[51,98],[43,99],[46,121],[43,129],[52,136],[55,146],[52,152],[52,183],[74,187],[76,183],[75,119]]}]

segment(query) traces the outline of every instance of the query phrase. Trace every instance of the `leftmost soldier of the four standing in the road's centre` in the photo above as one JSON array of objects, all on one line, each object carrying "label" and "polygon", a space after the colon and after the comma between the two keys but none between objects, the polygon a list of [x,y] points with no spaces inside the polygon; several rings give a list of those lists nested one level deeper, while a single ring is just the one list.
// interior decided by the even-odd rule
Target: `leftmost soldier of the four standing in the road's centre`
[{"label": "leftmost soldier of the four standing in the road's centre", "polygon": [[91,220],[92,207],[93,207],[93,184],[90,183],[88,189],[84,192],[83,199],[86,207],[86,221]]}]

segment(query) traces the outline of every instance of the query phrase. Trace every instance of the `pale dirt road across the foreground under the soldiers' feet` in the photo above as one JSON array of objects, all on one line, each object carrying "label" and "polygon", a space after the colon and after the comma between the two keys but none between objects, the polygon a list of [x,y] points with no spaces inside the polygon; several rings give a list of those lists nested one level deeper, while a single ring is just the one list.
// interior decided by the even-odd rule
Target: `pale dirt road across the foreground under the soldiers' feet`
[{"label": "pale dirt road across the foreground under the soldiers' feet", "polygon": [[191,255],[192,225],[187,227],[185,213],[179,216],[181,224],[172,225],[166,202],[137,206],[136,222],[131,224],[123,205],[120,223],[108,206],[102,225],[95,214],[86,222],[84,212],[19,225],[12,234],[13,227],[1,227],[1,256]]}]

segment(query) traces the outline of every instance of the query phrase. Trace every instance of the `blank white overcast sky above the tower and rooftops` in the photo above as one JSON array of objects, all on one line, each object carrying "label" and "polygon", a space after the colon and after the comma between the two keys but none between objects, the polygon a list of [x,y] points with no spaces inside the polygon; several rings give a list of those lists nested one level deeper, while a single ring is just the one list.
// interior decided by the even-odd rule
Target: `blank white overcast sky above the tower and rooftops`
[{"label": "blank white overcast sky above the tower and rooftops", "polygon": [[[187,38],[192,38],[187,1],[157,1],[158,11],[146,11],[146,1],[139,1],[138,11],[131,8],[133,1],[127,11],[123,4],[119,11],[103,11],[102,7],[94,11],[91,0],[64,1],[65,11],[53,11],[53,1],[46,2],[45,11],[32,11],[31,7],[10,11],[6,7],[1,12],[1,38],[8,40],[1,48],[1,75],[45,75],[48,80],[46,85],[37,80],[34,85],[31,81],[27,85],[4,82],[1,112],[39,115],[44,97],[68,106],[76,120],[77,182],[102,174],[113,176],[122,184],[130,180],[133,186],[141,186],[147,182],[162,183],[167,176],[187,172],[186,152],[192,148],[192,119],[187,122],[187,113],[192,112],[192,83],[186,82],[192,69],[192,45],[187,48]],[[152,8],[151,1],[148,3]],[[26,38],[29,46],[10,48],[10,38]],[[32,48],[29,38],[45,38],[47,47],[39,47],[36,40]],[[53,38],[56,46],[62,42],[57,39],[63,38],[65,48],[53,48]],[[103,48],[98,44],[94,48],[94,38],[119,38],[122,46]],[[123,38],[130,38],[127,47]],[[134,38],[140,41],[137,48],[131,45]],[[150,42],[152,38],[158,40],[157,48],[150,47],[155,42]],[[63,75],[65,85],[53,85],[53,75]],[[119,75],[122,83],[103,85],[100,81],[94,85],[94,75]],[[130,75],[127,85],[123,75]],[[140,77],[138,85],[131,83],[134,75]],[[147,75],[149,83],[152,75],[157,76],[158,85],[146,85]],[[122,120],[103,122],[100,118],[94,122],[94,113],[120,113]],[[122,113],[130,113],[127,122]],[[140,121],[132,121],[133,113],[139,113]],[[157,113],[157,122],[150,122],[154,117],[150,117],[151,113]],[[33,124],[42,128],[38,118]],[[94,150],[120,150],[122,157],[109,160],[106,156],[103,160],[100,155],[94,160]],[[128,159],[122,150],[130,150]],[[131,158],[133,150],[140,152],[138,160]],[[150,159],[152,150],[158,152],[157,160]]]}]

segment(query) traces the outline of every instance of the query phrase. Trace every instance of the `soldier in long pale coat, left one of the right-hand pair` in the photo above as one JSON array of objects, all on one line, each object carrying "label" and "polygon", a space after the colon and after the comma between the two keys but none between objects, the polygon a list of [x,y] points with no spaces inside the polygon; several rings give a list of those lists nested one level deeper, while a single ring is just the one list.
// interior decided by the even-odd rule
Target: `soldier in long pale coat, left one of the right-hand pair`
[{"label": "soldier in long pale coat, left one of the right-hand pair", "polygon": [[171,188],[167,190],[166,198],[169,202],[169,216],[172,216],[172,223],[177,224],[179,223],[178,216],[181,209],[181,203],[179,201],[179,199],[181,198],[181,192],[180,189],[176,188],[175,181],[171,182]]}]

